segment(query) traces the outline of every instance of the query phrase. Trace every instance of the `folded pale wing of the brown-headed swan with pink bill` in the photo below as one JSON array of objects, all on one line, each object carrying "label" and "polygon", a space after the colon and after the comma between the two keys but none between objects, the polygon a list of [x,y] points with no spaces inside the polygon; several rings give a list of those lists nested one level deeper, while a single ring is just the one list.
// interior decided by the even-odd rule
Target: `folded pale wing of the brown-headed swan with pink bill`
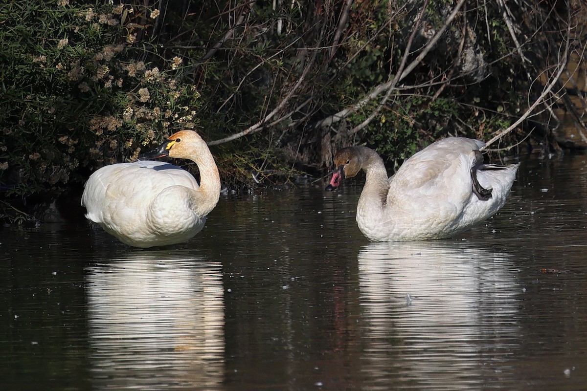
[{"label": "folded pale wing of the brown-headed swan with pink bill", "polygon": [[[473,193],[473,151],[483,145],[468,138],[447,138],[407,159],[390,178],[390,215],[414,230],[442,237],[495,213],[505,197],[503,202],[501,197],[481,201]],[[480,182],[486,189],[495,186],[491,174]]]}]

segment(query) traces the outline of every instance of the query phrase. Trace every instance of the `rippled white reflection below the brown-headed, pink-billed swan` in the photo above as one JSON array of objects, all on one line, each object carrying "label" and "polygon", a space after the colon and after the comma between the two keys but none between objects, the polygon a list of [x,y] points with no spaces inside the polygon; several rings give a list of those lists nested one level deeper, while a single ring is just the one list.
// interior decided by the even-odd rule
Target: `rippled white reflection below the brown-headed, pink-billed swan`
[{"label": "rippled white reflection below the brown-headed, pink-billed swan", "polygon": [[359,285],[370,389],[399,379],[478,390],[508,372],[520,288],[507,254],[465,242],[373,243],[359,253]]}]

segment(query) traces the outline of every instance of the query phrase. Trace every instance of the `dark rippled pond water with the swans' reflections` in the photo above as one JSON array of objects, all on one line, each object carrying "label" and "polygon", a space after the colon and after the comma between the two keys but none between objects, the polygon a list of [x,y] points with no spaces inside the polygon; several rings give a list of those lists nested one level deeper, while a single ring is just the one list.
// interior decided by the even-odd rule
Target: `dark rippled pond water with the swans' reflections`
[{"label": "dark rippled pond water with the swans' reflections", "polygon": [[454,239],[369,243],[360,181],[221,199],[191,242],[0,231],[2,390],[578,390],[587,158]]}]

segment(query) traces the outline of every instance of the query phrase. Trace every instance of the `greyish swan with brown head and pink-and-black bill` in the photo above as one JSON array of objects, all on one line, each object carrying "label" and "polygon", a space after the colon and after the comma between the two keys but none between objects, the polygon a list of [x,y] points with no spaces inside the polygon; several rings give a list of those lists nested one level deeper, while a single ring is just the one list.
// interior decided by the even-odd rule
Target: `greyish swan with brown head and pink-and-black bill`
[{"label": "greyish swan with brown head and pink-and-black bill", "polygon": [[356,221],[372,242],[443,239],[482,222],[502,206],[518,164],[483,164],[485,143],[448,137],[407,159],[391,178],[382,158],[367,147],[346,147],[335,155],[326,191],[361,169],[365,186]]}]

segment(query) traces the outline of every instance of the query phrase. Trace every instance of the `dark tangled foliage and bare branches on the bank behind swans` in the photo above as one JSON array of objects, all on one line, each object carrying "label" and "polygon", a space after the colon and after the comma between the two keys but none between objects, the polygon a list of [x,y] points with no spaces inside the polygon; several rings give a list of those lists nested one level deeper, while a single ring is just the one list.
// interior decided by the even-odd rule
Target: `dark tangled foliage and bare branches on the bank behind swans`
[{"label": "dark tangled foliage and bare branches on the bank behind swans", "polygon": [[[136,158],[181,128],[210,142],[232,188],[322,175],[351,144],[376,148],[393,169],[447,135],[489,140],[539,97],[531,122],[493,149],[576,146],[558,137],[553,109],[576,110],[571,98],[583,97],[581,86],[569,88],[573,74],[556,80],[569,61],[581,69],[585,7],[8,1],[0,9],[4,213],[14,217],[12,207],[35,193],[79,189],[99,166]],[[580,115],[576,123],[584,127]]]}]

